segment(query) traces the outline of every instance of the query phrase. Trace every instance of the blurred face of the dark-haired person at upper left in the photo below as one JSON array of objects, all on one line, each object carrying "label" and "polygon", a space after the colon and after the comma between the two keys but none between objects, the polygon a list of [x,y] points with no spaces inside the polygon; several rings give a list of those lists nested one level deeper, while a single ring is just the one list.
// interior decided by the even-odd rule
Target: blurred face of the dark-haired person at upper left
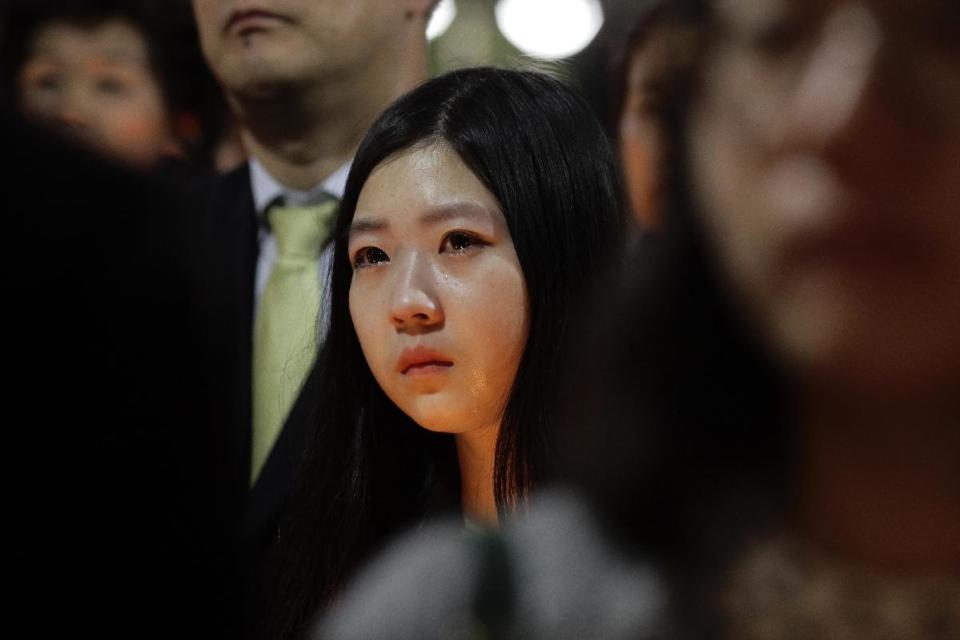
[{"label": "blurred face of the dark-haired person at upper left", "polygon": [[148,166],[173,151],[169,117],[133,26],[53,22],[37,31],[19,74],[20,106],[107,155]]}]

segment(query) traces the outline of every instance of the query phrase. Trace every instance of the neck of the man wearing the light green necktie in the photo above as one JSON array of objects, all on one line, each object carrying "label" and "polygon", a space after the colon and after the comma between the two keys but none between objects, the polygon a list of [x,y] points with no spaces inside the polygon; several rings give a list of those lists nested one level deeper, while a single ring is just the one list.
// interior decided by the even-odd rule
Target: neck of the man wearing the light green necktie
[{"label": "neck of the man wearing the light green necktie", "polygon": [[230,96],[248,153],[286,187],[308,190],[320,184],[353,158],[367,129],[393,100],[426,79],[426,51],[421,53],[422,60],[393,73]]}]

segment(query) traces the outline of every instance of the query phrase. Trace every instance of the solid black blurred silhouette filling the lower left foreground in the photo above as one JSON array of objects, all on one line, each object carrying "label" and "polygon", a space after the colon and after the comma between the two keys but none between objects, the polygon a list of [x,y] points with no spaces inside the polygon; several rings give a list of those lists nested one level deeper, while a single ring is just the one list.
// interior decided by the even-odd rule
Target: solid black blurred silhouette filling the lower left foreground
[{"label": "solid black blurred silhouette filling the lower left foreground", "polygon": [[0,133],[4,636],[219,637],[190,204],[2,109]]}]

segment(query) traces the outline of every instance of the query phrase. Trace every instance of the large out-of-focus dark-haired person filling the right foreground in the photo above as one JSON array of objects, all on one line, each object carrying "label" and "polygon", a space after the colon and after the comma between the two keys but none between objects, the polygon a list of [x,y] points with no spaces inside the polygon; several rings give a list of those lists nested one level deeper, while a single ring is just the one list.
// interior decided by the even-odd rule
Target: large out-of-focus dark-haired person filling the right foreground
[{"label": "large out-of-focus dark-haired person filling the right foreground", "polygon": [[594,515],[408,540],[321,637],[960,636],[958,5],[685,5],[664,235],[561,465]]}]

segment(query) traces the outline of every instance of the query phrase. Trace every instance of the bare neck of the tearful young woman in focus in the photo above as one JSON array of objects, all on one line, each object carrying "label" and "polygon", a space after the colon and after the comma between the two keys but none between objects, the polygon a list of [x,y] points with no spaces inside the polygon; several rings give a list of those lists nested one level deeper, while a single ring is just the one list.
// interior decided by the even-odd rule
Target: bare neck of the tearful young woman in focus
[{"label": "bare neck of the tearful young woman in focus", "polygon": [[493,469],[500,425],[491,425],[469,433],[458,433],[460,495],[464,516],[484,525],[496,526],[497,500],[493,491]]}]

